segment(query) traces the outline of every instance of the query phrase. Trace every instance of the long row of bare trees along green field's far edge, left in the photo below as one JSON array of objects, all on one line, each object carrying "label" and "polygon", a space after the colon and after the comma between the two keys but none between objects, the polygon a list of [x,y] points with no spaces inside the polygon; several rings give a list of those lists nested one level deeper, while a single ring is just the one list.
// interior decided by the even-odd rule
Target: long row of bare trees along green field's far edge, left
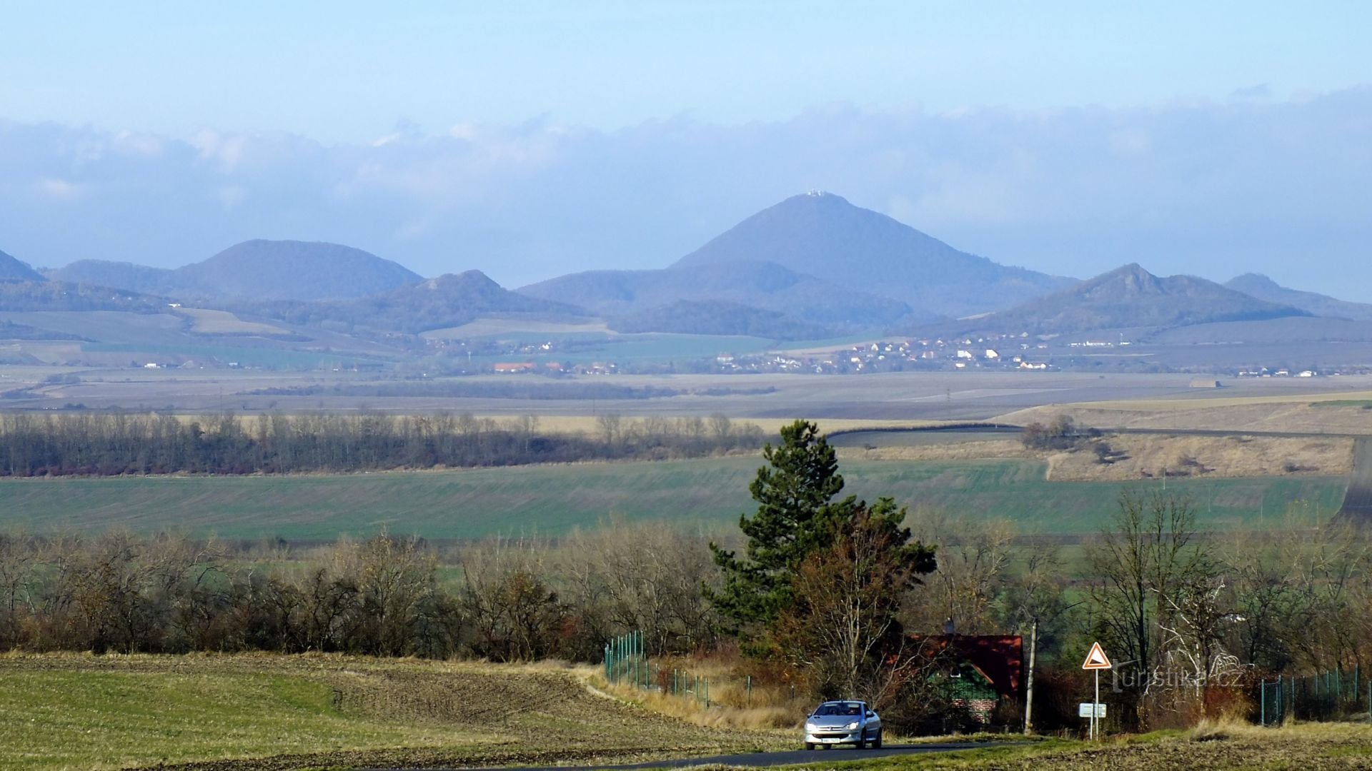
[{"label": "long row of bare trees along green field's far edge, left", "polygon": [[756,450],[763,432],[724,416],[620,418],[556,432],[538,417],[0,413],[0,476],[296,473],[663,460]]}]

